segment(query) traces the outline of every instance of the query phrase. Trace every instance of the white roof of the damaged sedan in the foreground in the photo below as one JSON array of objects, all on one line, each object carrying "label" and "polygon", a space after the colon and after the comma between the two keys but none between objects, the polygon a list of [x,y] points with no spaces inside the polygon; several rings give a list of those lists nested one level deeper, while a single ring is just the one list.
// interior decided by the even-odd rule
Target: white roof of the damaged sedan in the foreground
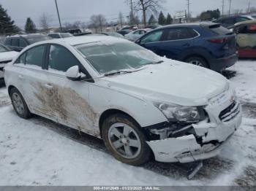
[{"label": "white roof of the damaged sedan in the foreground", "polygon": [[72,37],[67,37],[65,39],[50,39],[38,44],[48,44],[48,43],[59,43],[59,42],[64,42],[67,43],[71,46],[79,45],[79,44],[89,44],[93,42],[104,42],[106,44],[108,43],[113,43],[113,42],[129,42],[124,39],[118,39],[113,36],[97,36],[97,35],[90,35],[90,36],[72,36]]}]

